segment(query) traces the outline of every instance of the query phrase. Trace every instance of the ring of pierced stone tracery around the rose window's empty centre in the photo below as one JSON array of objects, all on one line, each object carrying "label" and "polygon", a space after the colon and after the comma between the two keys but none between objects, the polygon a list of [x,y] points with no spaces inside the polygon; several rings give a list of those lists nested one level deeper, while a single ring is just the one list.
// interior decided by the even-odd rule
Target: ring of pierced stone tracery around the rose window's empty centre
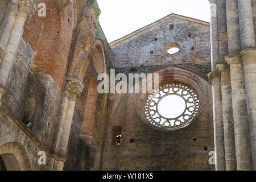
[{"label": "ring of pierced stone tracery around the rose window's empty centre", "polygon": [[[185,101],[185,109],[177,117],[164,117],[159,110],[160,101],[166,96],[179,96]],[[160,130],[176,130],[188,126],[199,113],[200,100],[196,92],[180,82],[162,86],[149,95],[145,104],[148,125]],[[172,112],[170,110],[170,112]]]}]

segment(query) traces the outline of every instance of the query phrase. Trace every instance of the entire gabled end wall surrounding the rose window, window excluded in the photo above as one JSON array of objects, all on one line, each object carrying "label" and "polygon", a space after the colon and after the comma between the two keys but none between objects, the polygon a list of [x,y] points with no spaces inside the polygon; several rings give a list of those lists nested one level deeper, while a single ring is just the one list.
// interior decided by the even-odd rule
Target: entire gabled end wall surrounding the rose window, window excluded
[{"label": "entire gabled end wall surrounding the rose window, window excluded", "polygon": [[[212,85],[206,81],[210,72],[209,35],[209,23],[171,14],[110,43],[115,72],[163,71],[164,74],[167,73],[164,69],[170,65],[185,68],[191,77],[189,71],[199,77],[204,88],[201,93],[204,103],[199,118],[191,125],[175,131],[159,131],[144,125],[138,116],[138,112],[144,114],[143,109],[137,107],[144,102],[139,100],[138,94],[112,94],[108,147],[102,169],[214,170],[214,165],[208,162],[209,151],[214,150]],[[170,55],[166,48],[173,42],[180,45],[180,51]],[[165,81],[172,82],[174,77]],[[189,84],[189,80],[184,81]],[[117,126],[121,129],[119,133]],[[120,145],[113,136],[117,134],[122,135]]]}]

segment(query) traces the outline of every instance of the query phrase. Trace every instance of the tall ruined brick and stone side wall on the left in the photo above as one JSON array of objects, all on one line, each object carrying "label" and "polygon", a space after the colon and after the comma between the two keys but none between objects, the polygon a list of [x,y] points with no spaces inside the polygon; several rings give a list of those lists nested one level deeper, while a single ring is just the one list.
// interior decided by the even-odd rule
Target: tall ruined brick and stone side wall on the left
[{"label": "tall ruined brick and stone side wall on the left", "polygon": [[[64,169],[99,169],[102,139],[105,133],[107,95],[98,95],[97,104],[94,106],[97,107],[97,111],[95,125],[91,129],[93,140],[89,149],[86,148],[84,140],[80,137],[88,83],[92,77],[97,77],[97,70],[94,65],[97,64],[98,66],[99,64],[100,67],[105,65],[104,69],[106,69],[110,64],[112,53],[101,28],[97,30],[97,27],[90,22],[92,18],[100,27],[97,18],[99,15],[97,2],[79,1],[81,7],[86,6],[86,9],[83,9],[86,13],[80,12],[81,14],[76,12],[78,8],[76,2],[72,0],[40,0],[36,1],[36,5],[40,2],[46,3],[46,17],[39,17],[35,12],[24,25],[23,35],[18,50],[15,52],[14,65],[5,88],[6,93],[1,100],[0,147],[3,146],[3,150],[5,150],[7,143],[21,144],[24,148],[24,154],[29,156],[28,163],[30,163],[32,170],[63,169],[54,166],[55,162],[63,162],[66,156],[60,156],[60,152],[57,151],[60,144],[53,146],[54,137],[59,134],[59,137],[68,137],[69,139]],[[5,9],[5,6],[1,1],[0,10]],[[12,8],[15,11],[17,6]],[[1,13],[0,20],[3,20],[4,11]],[[10,17],[9,23],[13,26],[16,18],[15,13],[10,14]],[[87,19],[88,17],[89,19]],[[74,31],[77,28],[77,22],[81,19],[76,18],[81,18],[85,22],[81,29],[82,38],[86,38],[88,32],[92,32],[88,39],[82,39],[81,42],[80,39],[76,39]],[[11,26],[4,28],[11,30]],[[0,64],[8,43],[6,35],[10,36],[10,31],[6,31],[5,34],[0,32]],[[2,39],[3,37],[6,40]],[[100,39],[104,39],[101,45],[104,59],[94,63],[93,48],[97,41],[101,42]],[[82,75],[84,90],[81,97],[77,98],[70,137],[69,134],[63,136],[63,133],[58,133],[59,131],[56,130],[60,115],[61,94],[64,92],[64,85],[67,81],[65,79],[68,76],[73,76],[71,74],[72,69],[69,70],[69,68],[78,67],[81,71],[79,61],[73,60],[72,54],[76,56],[76,53],[83,49],[88,57],[86,59],[81,57],[79,61],[83,64],[89,60],[90,64]],[[107,55],[106,58],[105,55]],[[108,63],[104,63],[105,60]],[[25,125],[28,121],[32,123],[32,126]],[[2,148],[0,149],[2,150]],[[46,151],[47,165],[40,166],[38,164],[39,151]]]}]

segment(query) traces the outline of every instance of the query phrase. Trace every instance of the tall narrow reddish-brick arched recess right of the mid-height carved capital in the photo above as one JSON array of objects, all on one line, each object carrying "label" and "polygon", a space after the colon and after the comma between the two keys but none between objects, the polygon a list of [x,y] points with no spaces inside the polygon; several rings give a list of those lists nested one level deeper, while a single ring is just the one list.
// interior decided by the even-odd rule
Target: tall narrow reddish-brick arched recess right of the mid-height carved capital
[{"label": "tall narrow reddish-brick arched recess right of the mid-height carved capital", "polygon": [[97,79],[91,78],[86,97],[84,121],[82,124],[82,135],[92,137],[97,107]]}]

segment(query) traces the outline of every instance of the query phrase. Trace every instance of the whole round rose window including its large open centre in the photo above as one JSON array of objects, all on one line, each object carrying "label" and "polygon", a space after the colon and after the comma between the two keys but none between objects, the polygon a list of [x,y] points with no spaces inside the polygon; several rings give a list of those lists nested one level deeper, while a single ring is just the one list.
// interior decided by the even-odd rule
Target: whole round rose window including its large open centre
[{"label": "whole round rose window including its large open centre", "polygon": [[177,130],[188,126],[200,110],[197,93],[187,85],[175,82],[164,85],[147,98],[147,124],[160,130]]}]

